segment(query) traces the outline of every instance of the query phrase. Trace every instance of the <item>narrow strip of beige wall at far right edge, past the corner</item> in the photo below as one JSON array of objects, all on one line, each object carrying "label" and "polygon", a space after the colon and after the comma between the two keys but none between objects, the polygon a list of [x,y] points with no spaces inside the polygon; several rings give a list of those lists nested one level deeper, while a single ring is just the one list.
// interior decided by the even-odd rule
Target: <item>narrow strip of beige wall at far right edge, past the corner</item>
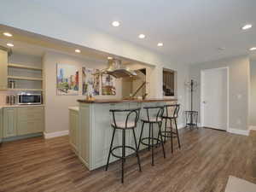
[{"label": "narrow strip of beige wall at far right edge, past the corner", "polygon": [[250,97],[250,125],[256,126],[256,61],[250,61],[251,97]]}]

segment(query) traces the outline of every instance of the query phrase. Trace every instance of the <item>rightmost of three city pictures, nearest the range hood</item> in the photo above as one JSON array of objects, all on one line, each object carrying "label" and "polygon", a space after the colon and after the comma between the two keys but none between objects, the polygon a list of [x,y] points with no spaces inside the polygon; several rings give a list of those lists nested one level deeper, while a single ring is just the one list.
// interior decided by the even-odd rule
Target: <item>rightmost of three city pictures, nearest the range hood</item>
[{"label": "rightmost of three city pictures, nearest the range hood", "polygon": [[102,95],[116,95],[115,78],[108,74],[102,74]]}]

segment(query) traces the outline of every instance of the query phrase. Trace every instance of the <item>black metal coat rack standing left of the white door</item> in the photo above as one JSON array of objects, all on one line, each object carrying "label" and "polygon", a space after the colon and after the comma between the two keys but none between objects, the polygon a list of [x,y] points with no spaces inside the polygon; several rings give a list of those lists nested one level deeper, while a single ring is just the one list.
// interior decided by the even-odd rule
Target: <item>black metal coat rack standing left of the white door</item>
[{"label": "black metal coat rack standing left of the white door", "polygon": [[186,127],[190,129],[195,127],[198,128],[198,112],[193,110],[193,92],[197,89],[198,83],[191,79],[189,82],[186,82],[185,85],[189,88],[191,92],[191,99],[190,99],[190,111],[185,111],[186,116]]}]

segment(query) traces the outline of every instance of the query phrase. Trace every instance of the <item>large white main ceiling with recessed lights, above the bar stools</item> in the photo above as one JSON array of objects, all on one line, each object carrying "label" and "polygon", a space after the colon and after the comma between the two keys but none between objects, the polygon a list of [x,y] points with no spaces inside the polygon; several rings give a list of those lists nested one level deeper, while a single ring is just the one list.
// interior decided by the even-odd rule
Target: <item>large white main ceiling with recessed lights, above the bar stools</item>
[{"label": "large white main ceiling with recessed lights, above the bar stools", "polygon": [[[34,0],[113,36],[183,63],[250,54],[256,46],[256,0]],[[119,27],[111,26],[119,20]],[[251,23],[253,28],[241,31]],[[145,39],[137,38],[139,33]],[[164,47],[157,47],[163,42]],[[218,48],[224,47],[220,51]]]}]

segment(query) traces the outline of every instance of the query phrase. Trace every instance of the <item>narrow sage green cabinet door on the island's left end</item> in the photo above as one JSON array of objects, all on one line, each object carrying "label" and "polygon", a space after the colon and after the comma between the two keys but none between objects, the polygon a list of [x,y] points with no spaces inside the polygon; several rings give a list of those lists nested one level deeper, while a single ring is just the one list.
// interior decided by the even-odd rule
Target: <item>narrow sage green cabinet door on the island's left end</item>
[{"label": "narrow sage green cabinet door on the island's left end", "polygon": [[70,110],[69,112],[69,143],[73,148],[78,150],[78,136],[79,136],[79,113]]}]

